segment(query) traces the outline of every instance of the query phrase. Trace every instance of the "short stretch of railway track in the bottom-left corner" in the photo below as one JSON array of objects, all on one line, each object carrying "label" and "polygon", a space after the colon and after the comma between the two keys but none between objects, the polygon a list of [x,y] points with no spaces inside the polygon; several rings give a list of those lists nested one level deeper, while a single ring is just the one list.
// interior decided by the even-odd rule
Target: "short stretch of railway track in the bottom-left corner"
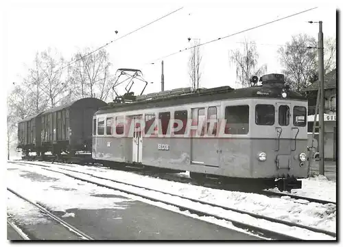
[{"label": "short stretch of railway track in the bottom-left corner", "polygon": [[[51,217],[53,220],[55,220],[56,222],[58,222],[59,224],[62,224],[62,226],[64,226],[65,228],[67,228],[71,233],[73,234],[77,234],[79,235],[82,239],[84,240],[93,240],[93,238],[89,237],[88,235],[86,235],[86,233],[83,233],[82,231],[78,230],[78,228],[75,228],[74,226],[71,226],[71,224],[65,222],[64,220],[62,220],[60,217],[54,215],[53,213],[51,213],[49,210],[45,209],[44,207],[40,206],[40,204],[33,202],[32,200],[29,200],[28,198],[25,198],[25,196],[21,195],[20,193],[14,191],[13,189],[7,188],[8,191],[10,191],[11,193],[13,193],[14,195],[16,195],[17,197],[21,198],[22,200],[24,200],[25,202],[32,204],[34,207],[36,207],[37,209],[39,209],[41,212],[45,213],[45,215],[48,215],[49,217]],[[16,230],[16,229],[14,229]],[[18,232],[18,231],[17,231]],[[19,232],[18,232],[19,233]],[[20,234],[21,236],[23,234]]]}]

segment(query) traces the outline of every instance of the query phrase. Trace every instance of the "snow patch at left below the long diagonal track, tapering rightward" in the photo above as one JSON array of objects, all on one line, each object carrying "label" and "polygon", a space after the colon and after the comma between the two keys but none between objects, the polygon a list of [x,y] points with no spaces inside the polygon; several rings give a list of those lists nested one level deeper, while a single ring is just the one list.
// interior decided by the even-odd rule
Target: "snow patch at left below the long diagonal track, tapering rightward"
[{"label": "snow patch at left below the long diagonal track, tapering rightward", "polygon": [[[7,177],[8,187],[10,187],[10,189],[25,195],[25,197],[30,200],[43,202],[45,207],[48,207],[48,209],[53,211],[67,211],[68,209],[125,209],[125,207],[122,207],[123,203],[130,203],[132,200],[140,200],[141,202],[153,204],[169,211],[211,222],[248,235],[253,235],[241,228],[233,226],[231,222],[225,220],[217,220],[213,217],[199,217],[198,215],[189,212],[182,212],[178,207],[161,202],[153,202],[139,196],[132,196],[128,193],[106,189],[91,183],[80,182],[80,180],[75,180],[62,174],[57,174],[56,172],[49,172],[34,165],[22,167],[8,163],[8,169]],[[34,183],[32,183],[32,179],[34,180]],[[121,196],[122,199],[119,199],[121,207],[118,207],[117,205],[119,202],[118,198],[92,197],[99,194]],[[36,223],[37,217],[29,212],[32,210],[38,212],[38,209],[35,209],[29,204],[25,204],[25,207],[20,207],[19,209],[21,209],[21,211],[19,210],[19,213],[16,213],[18,210],[16,202],[13,202],[12,198],[8,198],[8,212],[16,213],[16,219],[19,219],[19,222],[26,220],[28,224]],[[26,213],[23,213],[23,211]],[[65,213],[62,217],[74,216],[75,214],[71,215]]]}]

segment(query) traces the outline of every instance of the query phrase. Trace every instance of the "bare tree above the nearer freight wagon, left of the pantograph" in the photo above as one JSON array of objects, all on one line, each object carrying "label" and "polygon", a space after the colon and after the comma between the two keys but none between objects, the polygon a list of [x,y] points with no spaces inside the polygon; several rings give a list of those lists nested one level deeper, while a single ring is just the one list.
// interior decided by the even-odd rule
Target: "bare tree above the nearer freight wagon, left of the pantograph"
[{"label": "bare tree above the nearer freight wagon, left of the pantograph", "polygon": [[71,76],[78,87],[80,97],[97,97],[106,100],[115,80],[110,73],[111,63],[105,49],[90,54],[86,48],[74,56],[75,63],[71,66]]}]

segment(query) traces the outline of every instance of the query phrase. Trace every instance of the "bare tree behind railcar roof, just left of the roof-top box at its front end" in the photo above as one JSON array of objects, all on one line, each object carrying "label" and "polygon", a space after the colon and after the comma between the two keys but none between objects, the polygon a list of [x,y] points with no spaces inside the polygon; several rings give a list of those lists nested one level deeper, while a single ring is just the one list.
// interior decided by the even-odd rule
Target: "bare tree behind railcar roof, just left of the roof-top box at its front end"
[{"label": "bare tree behind railcar roof, just left of the roof-top box at its front end", "polygon": [[267,71],[266,64],[257,68],[259,54],[254,41],[245,40],[243,51],[241,49],[230,50],[229,57],[230,62],[236,66],[237,80],[242,87],[251,86],[250,78],[252,75],[260,76]]}]

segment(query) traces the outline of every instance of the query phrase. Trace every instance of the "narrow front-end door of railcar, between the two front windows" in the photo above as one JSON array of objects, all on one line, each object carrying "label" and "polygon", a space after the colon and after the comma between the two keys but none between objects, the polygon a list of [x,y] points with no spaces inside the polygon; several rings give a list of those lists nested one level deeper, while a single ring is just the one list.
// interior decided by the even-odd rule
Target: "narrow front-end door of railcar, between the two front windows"
[{"label": "narrow front-end door of railcar, between the two front windows", "polygon": [[291,104],[288,102],[276,102],[276,149],[277,167],[290,169],[289,157],[292,152],[293,130],[291,124]]}]

